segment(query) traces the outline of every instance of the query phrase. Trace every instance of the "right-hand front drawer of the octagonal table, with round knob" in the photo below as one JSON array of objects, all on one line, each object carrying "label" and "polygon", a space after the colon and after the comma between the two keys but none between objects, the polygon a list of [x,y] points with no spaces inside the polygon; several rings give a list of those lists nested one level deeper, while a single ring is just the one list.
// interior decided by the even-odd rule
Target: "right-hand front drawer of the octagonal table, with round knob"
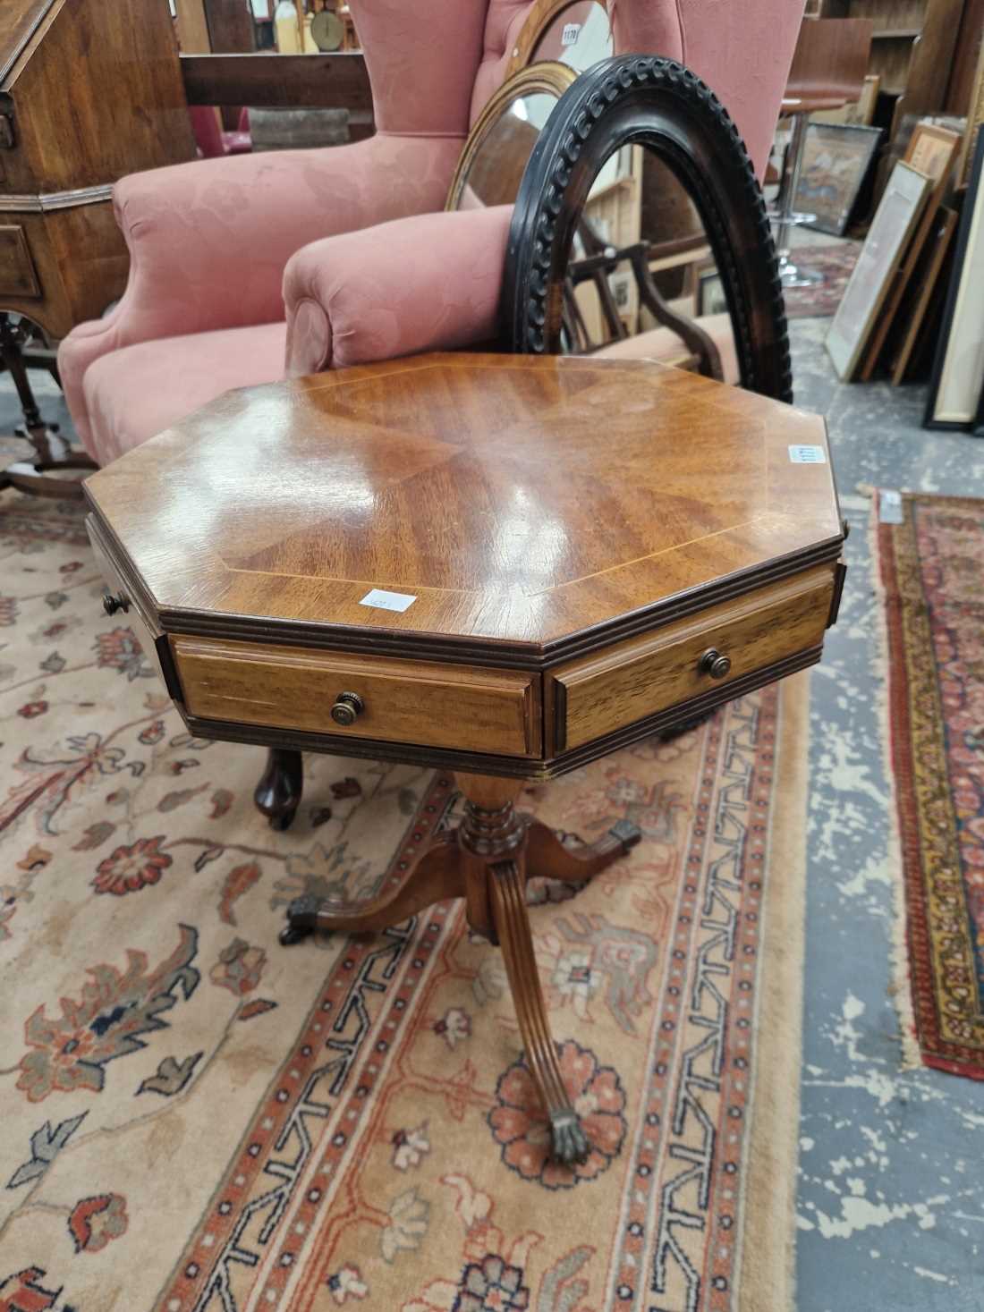
[{"label": "right-hand front drawer of the octagonal table, with round knob", "polygon": [[[726,687],[819,647],[830,614],[834,567],[817,565],[736,601],[722,602],[547,674],[558,752]],[[714,652],[729,661],[715,678]],[[718,670],[722,669],[719,664]]]}]

